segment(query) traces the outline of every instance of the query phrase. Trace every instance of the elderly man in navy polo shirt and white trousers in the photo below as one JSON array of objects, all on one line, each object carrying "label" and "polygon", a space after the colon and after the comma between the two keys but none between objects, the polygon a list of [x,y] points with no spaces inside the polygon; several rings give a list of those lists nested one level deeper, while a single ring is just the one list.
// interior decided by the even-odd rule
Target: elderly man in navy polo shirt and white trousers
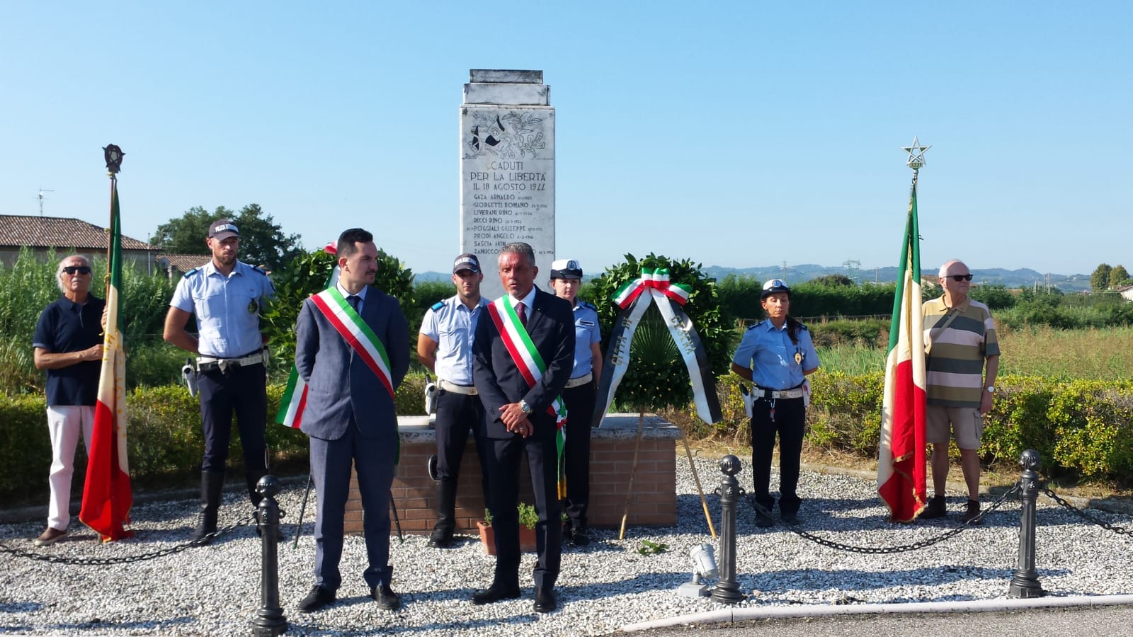
[{"label": "elderly man in navy polo shirt and white trousers", "polygon": [[48,529],[36,546],[67,537],[75,448],[82,432],[91,452],[94,406],[102,360],[102,312],[107,301],[91,295],[91,262],[71,255],[56,277],[62,298],[49,305],[35,324],[35,368],[48,372],[48,433],[51,436],[51,499]]}]

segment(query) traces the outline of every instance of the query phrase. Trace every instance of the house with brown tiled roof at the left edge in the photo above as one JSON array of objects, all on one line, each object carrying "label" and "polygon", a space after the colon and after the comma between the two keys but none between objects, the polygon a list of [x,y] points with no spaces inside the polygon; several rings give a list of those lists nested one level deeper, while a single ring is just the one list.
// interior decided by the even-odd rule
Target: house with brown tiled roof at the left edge
[{"label": "house with brown tiled roof at the left edge", "polygon": [[[105,256],[110,246],[110,231],[102,226],[68,216],[34,216],[0,214],[0,262],[12,264],[22,248],[46,256],[77,253],[86,257]],[[140,267],[151,269],[157,246],[122,236],[122,257]]]}]

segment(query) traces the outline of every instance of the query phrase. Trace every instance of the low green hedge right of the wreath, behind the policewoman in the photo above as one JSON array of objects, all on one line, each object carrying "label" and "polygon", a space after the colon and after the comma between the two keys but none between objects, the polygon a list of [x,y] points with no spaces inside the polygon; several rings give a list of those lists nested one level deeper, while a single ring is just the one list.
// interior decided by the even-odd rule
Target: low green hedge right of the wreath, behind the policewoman
[{"label": "low green hedge right of the wreath, behind the policewoman", "polygon": [[[819,370],[810,379],[809,444],[876,459],[884,374]],[[734,374],[717,382],[724,419],[712,428],[696,419],[691,407],[666,415],[701,435],[748,444],[739,383]],[[1013,466],[1020,453],[1034,449],[1048,476],[1133,483],[1133,382],[1000,376],[996,388],[995,406],[983,418],[985,464]]]}]

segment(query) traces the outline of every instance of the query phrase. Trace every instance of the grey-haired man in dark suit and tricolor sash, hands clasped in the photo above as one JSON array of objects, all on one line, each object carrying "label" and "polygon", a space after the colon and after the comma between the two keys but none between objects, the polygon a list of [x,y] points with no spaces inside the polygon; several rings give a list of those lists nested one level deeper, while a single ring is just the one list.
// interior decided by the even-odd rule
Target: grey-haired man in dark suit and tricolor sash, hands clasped
[{"label": "grey-haired man in dark suit and tricolor sash, hands clasped", "polygon": [[[492,586],[472,595],[472,603],[519,597],[517,504],[519,462],[526,451],[539,513],[535,527],[539,559],[533,574],[535,610],[551,612],[557,605],[554,586],[562,542],[555,441],[561,415],[548,413],[548,408],[561,405],[560,396],[574,364],[574,321],[570,303],[535,287],[539,269],[531,246],[508,244],[499,264],[506,294],[488,306],[488,315],[476,325],[472,343],[472,379],[484,404],[489,443],[488,508],[495,528],[496,567]],[[527,347],[523,332],[534,347]],[[517,348],[522,356],[513,357]]]}]

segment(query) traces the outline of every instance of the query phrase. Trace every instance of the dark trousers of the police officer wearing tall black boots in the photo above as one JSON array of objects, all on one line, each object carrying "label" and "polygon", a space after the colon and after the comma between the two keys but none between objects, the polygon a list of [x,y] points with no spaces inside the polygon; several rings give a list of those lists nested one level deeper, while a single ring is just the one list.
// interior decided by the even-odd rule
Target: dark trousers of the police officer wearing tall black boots
[{"label": "dark trousers of the police officer wearing tall black boots", "polygon": [[232,436],[232,413],[240,428],[244,469],[263,473],[267,468],[264,428],[267,426],[267,390],[264,366],[246,365],[203,372],[197,376],[201,390],[201,428],[205,439],[202,472],[223,472],[228,443]]}]

